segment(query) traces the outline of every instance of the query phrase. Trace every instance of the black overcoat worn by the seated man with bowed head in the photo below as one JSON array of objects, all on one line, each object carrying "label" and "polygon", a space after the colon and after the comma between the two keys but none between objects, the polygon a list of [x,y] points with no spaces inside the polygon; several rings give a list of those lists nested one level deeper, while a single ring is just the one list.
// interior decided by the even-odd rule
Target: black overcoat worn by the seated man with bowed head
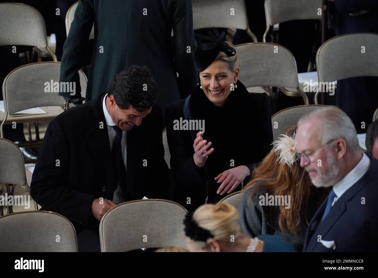
[{"label": "black overcoat worn by the seated man with bowed head", "polygon": [[[63,214],[77,232],[91,226],[93,198],[112,200],[117,188],[107,125],[97,99],[69,109],[50,122],[33,172],[30,194],[42,210]],[[154,106],[140,126],[127,132],[127,200],[166,198],[162,113]],[[103,127],[101,128],[101,123]],[[143,160],[147,166],[143,166]],[[59,164],[57,164],[59,160]],[[58,166],[59,165],[59,166]],[[121,186],[122,192],[125,188]]]}]

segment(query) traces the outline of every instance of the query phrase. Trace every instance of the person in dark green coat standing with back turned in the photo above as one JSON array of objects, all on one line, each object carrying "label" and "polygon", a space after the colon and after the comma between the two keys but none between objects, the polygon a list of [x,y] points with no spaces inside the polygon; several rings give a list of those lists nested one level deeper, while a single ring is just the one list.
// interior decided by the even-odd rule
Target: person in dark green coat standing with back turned
[{"label": "person in dark green coat standing with back turned", "polygon": [[198,74],[193,63],[191,0],[80,0],[60,66],[60,82],[76,82],[75,95],[59,93],[70,98],[70,103],[84,100],[77,71],[84,64],[93,24],[95,43],[86,101],[107,91],[116,73],[134,64],[147,65],[152,71],[163,110],[166,103],[192,93]]}]

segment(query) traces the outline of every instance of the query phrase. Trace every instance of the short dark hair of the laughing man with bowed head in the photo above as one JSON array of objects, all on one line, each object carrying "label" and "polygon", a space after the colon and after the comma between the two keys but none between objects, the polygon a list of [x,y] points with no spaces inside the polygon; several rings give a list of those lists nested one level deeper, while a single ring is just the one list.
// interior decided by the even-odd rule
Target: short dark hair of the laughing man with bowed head
[{"label": "short dark hair of the laughing man with bowed head", "polygon": [[131,105],[136,111],[144,112],[153,105],[159,91],[149,68],[132,65],[114,76],[108,96],[114,96],[120,109],[129,109]]}]

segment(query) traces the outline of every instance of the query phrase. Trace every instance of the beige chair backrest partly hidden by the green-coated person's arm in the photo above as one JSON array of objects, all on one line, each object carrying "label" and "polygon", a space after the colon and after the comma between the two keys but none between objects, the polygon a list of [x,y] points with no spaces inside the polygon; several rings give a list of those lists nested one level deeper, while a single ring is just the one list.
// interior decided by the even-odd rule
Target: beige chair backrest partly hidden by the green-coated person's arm
[{"label": "beige chair backrest partly hidden by the green-coated person's arm", "polygon": [[[51,88],[54,90],[55,82],[60,84],[59,74],[60,62],[33,63],[12,70],[3,83],[5,117],[35,107],[63,107],[64,98],[57,92],[51,92]],[[85,92],[87,78],[81,70],[79,70],[79,76],[81,91]]]}]

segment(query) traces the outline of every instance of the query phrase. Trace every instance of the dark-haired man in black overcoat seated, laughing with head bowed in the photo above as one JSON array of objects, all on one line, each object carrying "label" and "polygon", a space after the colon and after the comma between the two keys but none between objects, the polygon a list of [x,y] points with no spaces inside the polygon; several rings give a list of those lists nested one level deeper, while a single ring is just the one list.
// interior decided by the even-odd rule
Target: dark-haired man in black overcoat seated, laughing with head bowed
[{"label": "dark-haired man in black overcoat seated, laughing with head bowed", "polygon": [[117,203],[166,199],[169,170],[157,97],[150,71],[132,66],[115,76],[107,93],[50,122],[30,194],[42,210],[70,219],[79,251],[100,250],[99,220]]}]

